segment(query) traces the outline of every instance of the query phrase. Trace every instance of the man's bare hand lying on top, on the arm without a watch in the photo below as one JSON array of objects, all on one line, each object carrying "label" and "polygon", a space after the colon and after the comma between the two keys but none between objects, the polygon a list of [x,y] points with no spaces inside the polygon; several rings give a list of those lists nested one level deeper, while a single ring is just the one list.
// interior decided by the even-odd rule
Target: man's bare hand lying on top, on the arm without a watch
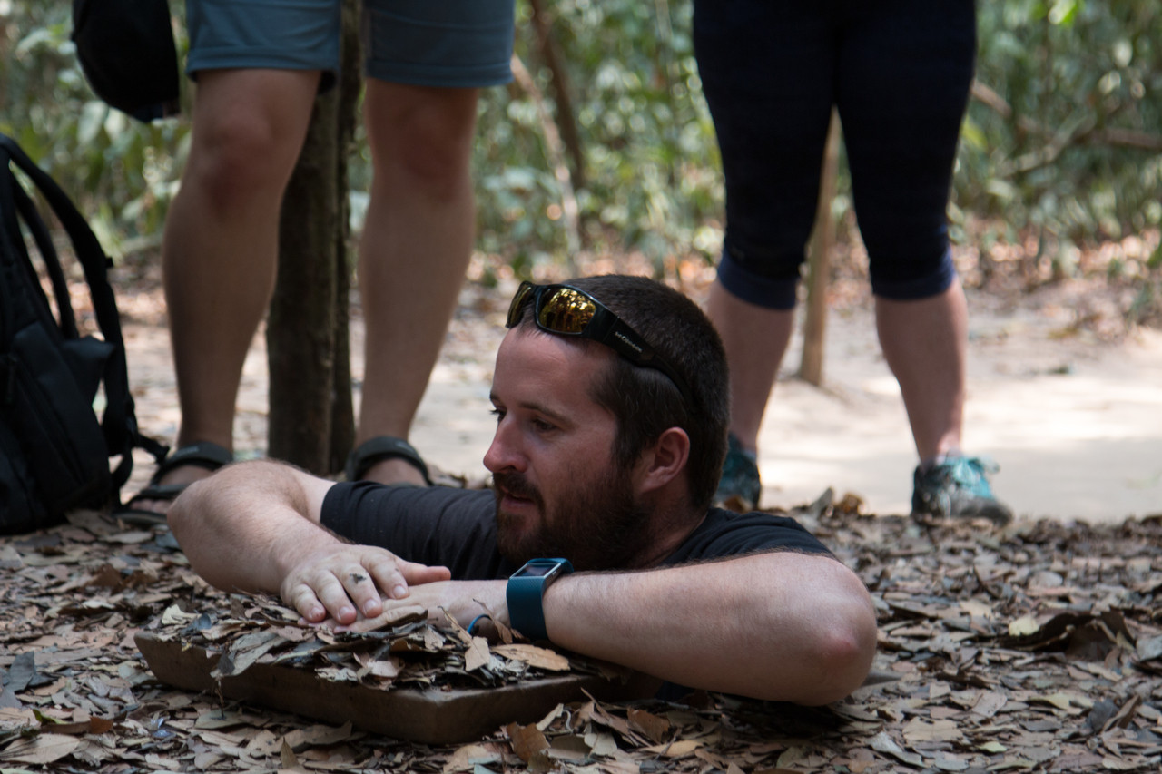
[{"label": "man's bare hand lying on top, on the arm without a watch", "polygon": [[385,549],[342,543],[327,545],[299,561],[287,572],[279,590],[282,601],[309,623],[330,616],[337,624],[350,625],[360,614],[366,618],[382,615],[383,596],[407,600],[409,586],[449,578],[447,567],[429,567],[404,561]]}]

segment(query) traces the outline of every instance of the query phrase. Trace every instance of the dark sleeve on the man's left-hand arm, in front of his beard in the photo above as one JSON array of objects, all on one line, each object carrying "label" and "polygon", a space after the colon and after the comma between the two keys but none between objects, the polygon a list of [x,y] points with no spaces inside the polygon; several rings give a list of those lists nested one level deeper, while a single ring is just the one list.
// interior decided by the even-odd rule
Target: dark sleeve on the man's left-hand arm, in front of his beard
[{"label": "dark sleeve on the man's left-hand arm, in front of his beard", "polygon": [[493,580],[516,571],[496,551],[495,514],[489,490],[353,481],[328,490],[322,524],[401,559],[447,567],[454,580]]}]

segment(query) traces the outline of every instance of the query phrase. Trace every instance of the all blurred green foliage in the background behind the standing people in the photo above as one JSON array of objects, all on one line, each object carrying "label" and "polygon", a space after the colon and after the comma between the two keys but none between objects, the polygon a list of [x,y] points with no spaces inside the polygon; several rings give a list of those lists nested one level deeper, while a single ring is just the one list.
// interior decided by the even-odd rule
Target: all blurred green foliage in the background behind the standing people
[{"label": "all blurred green foliage in the background behind the standing people", "polygon": [[[172,7],[182,49],[180,0]],[[659,273],[672,271],[674,256],[713,260],[722,178],[691,3],[544,0],[544,8],[584,153],[573,191],[582,245],[639,250]],[[144,126],[98,101],[76,63],[69,13],[69,3],[0,0],[0,130],[78,198],[113,252],[131,253],[159,239],[188,119]],[[964,123],[954,236],[983,239],[988,253],[1032,231],[1068,273],[1075,245],[1160,228],[1162,5],[1003,0],[978,3],[978,14],[985,88]],[[569,121],[532,21],[532,0],[518,0],[516,52],[543,101],[516,84],[483,92],[473,159],[480,248],[518,273],[562,260],[572,244],[568,189],[554,174],[544,116]],[[368,182],[360,144],[356,212]],[[841,170],[837,215],[849,206],[847,189]],[[974,220],[988,224],[985,234]]]}]

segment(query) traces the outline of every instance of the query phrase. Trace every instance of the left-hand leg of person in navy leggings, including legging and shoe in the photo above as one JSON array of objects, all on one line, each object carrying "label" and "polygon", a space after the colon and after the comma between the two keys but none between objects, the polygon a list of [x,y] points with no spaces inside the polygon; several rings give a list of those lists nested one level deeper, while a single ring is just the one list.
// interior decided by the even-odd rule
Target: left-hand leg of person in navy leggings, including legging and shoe
[{"label": "left-hand leg of person in navy leggings, including legging and shoe", "polygon": [[731,446],[716,500],[754,506],[759,428],[815,221],[834,46],[827,12],[804,5],[698,0],[694,19],[726,187],[726,238],[706,306],[731,371]]}]

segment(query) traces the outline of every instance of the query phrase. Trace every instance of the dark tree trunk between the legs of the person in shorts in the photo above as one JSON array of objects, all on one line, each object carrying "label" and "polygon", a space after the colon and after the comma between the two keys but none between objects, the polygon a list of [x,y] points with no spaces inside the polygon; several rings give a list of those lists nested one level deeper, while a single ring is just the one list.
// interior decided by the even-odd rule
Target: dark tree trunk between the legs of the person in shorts
[{"label": "dark tree trunk between the legs of the person in shorts", "polygon": [[346,157],[359,71],[357,1],[344,0],[336,88],[315,100],[279,222],[279,277],[266,328],[270,456],[325,475],[353,438],[347,345]]}]

